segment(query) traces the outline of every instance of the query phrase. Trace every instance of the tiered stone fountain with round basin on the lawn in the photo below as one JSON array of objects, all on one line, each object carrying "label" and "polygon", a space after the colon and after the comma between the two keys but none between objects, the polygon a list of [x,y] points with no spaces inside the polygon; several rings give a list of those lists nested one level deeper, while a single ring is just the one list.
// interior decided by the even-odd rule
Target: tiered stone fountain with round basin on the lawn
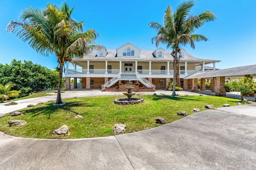
[{"label": "tiered stone fountain with round basin on the lawn", "polygon": [[135,95],[135,93],[132,92],[132,89],[134,88],[134,87],[132,87],[132,82],[129,81],[127,84],[128,84],[128,86],[126,87],[126,89],[128,91],[123,92],[123,94],[125,96],[127,96],[127,98],[115,99],[114,103],[117,105],[134,105],[134,104],[142,103],[144,101],[144,99],[132,98],[132,96]]}]

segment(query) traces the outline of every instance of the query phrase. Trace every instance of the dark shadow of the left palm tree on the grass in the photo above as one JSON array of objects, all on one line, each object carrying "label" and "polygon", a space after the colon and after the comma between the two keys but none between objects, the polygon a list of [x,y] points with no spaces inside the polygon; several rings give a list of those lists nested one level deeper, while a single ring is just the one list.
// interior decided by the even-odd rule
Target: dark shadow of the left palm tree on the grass
[{"label": "dark shadow of the left palm tree on the grass", "polygon": [[38,108],[31,108],[26,111],[23,111],[24,114],[29,114],[31,117],[36,117],[39,115],[47,115],[48,119],[51,118],[52,114],[58,114],[61,111],[71,112],[73,114],[79,114],[75,112],[72,108],[73,107],[94,107],[94,105],[90,105],[89,103],[84,103],[81,101],[71,101],[66,103],[65,106],[53,106],[53,103],[46,104],[46,106],[38,107]]}]

